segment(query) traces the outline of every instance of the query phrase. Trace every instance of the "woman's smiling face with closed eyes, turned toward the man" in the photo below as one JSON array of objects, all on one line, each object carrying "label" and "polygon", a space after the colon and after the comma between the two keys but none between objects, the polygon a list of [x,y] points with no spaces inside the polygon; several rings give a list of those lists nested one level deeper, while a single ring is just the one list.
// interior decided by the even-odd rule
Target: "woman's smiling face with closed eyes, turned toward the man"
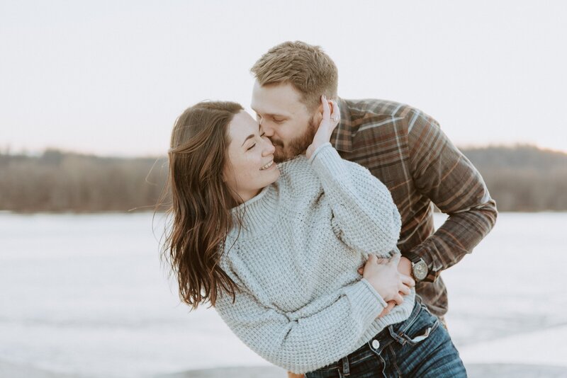
[{"label": "woman's smiling face with closed eyes, turned toward the man", "polygon": [[279,178],[274,163],[274,145],[248,113],[242,110],[228,125],[228,164],[223,168],[225,183],[246,202]]}]

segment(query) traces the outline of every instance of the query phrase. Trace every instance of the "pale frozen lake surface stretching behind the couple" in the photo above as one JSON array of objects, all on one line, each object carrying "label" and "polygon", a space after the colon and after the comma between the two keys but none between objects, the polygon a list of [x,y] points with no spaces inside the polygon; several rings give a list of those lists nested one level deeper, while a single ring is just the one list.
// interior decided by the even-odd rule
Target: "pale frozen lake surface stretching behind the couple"
[{"label": "pale frozen lake surface stretching behind the couple", "polygon": [[[440,224],[444,216],[437,215]],[[90,377],[267,365],[213,309],[179,303],[152,214],[0,214],[1,364]],[[464,362],[567,372],[567,213],[500,214],[454,268],[449,331]]]}]

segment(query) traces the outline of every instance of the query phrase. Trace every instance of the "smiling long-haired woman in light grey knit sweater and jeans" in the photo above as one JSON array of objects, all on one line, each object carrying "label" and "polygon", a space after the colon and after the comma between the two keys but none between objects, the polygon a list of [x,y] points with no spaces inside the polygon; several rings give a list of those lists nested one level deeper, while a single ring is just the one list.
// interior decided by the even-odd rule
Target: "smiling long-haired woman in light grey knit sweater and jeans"
[{"label": "smiling long-haired woman in light grey knit sweater and jeans", "polygon": [[[322,98],[320,110],[305,156],[279,166],[238,104],[199,103],[178,118],[165,252],[181,299],[210,302],[249,348],[307,377],[466,376],[447,332],[415,303],[415,282],[398,273],[388,189],[329,143],[336,103]],[[412,363],[386,357],[393,340]]]}]

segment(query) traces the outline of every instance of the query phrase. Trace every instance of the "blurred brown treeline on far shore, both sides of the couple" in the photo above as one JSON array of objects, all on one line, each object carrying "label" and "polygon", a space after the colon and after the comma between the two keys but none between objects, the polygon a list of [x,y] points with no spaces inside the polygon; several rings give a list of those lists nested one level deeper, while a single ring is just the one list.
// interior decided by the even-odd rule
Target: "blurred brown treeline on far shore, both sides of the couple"
[{"label": "blurred brown treeline on far shore, both sides of the couple", "polygon": [[[464,149],[500,211],[567,210],[567,154],[530,146]],[[46,150],[0,152],[0,210],[103,212],[153,210],[167,159],[103,158]]]}]

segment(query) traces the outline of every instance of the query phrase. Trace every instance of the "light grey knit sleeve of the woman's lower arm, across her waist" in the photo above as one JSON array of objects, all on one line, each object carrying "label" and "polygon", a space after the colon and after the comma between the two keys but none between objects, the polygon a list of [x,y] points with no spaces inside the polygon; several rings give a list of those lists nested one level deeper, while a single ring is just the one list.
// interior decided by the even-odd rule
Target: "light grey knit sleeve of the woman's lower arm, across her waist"
[{"label": "light grey knit sleeve of the woman's lower arm, across her waist", "polygon": [[335,302],[319,312],[291,320],[285,312],[261,304],[246,287],[221,294],[215,310],[231,331],[265,360],[298,374],[339,360],[386,307],[364,278],[342,287]]}]

